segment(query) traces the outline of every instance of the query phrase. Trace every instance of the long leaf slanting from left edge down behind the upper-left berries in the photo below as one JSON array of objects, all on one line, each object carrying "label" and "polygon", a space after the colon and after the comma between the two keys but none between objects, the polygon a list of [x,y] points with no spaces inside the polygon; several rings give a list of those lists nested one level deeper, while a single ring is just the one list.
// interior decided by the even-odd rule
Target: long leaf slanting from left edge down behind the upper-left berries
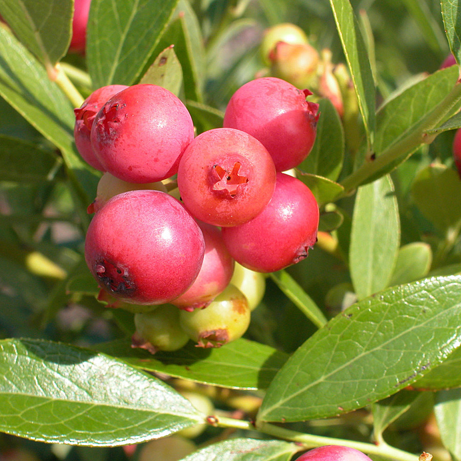
[{"label": "long leaf slanting from left edge down behind the upper-left berries", "polygon": [[88,205],[94,199],[99,175],[75,149],[72,104],[37,60],[3,28],[0,56],[0,94],[61,151],[73,186],[82,204]]}]

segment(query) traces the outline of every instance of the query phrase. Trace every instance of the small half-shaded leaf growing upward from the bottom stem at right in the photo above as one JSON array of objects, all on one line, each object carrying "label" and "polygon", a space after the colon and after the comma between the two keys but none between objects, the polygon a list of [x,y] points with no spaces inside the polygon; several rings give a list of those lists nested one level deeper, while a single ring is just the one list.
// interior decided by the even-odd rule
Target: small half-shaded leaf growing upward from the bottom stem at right
[{"label": "small half-shaded leaf growing upward from the bottom stem at right", "polygon": [[384,430],[417,400],[419,392],[402,389],[400,392],[371,405],[374,439],[379,440]]}]

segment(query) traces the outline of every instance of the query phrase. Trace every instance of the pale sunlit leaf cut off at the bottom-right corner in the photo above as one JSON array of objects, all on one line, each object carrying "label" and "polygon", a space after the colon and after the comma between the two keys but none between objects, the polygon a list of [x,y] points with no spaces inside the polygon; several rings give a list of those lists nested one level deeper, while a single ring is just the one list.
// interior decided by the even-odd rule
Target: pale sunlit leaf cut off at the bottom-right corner
[{"label": "pale sunlit leaf cut off at the bottom-right corner", "polygon": [[437,392],[434,413],[442,443],[450,452],[453,460],[459,461],[461,459],[461,438],[459,438],[461,389]]}]

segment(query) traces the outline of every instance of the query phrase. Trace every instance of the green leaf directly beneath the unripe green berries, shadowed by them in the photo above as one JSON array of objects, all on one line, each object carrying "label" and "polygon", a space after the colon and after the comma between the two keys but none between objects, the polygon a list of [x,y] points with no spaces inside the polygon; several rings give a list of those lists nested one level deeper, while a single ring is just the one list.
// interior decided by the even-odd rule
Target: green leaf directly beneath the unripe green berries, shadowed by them
[{"label": "green leaf directly beneath the unripe green berries, shadowed by them", "polygon": [[137,368],[176,378],[235,389],[265,389],[288,358],[269,346],[239,339],[217,349],[189,343],[175,352],[150,354],[131,343],[114,341],[97,346]]}]

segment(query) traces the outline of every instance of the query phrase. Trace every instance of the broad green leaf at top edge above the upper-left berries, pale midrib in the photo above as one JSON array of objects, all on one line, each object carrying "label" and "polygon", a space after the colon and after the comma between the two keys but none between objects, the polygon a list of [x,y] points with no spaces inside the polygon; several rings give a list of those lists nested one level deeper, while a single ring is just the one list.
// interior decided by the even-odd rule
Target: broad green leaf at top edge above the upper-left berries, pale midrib
[{"label": "broad green leaf at top edge above the upper-left berries, pale midrib", "polygon": [[87,62],[94,88],[114,83],[133,85],[137,81],[177,3],[178,0],[92,1]]}]

